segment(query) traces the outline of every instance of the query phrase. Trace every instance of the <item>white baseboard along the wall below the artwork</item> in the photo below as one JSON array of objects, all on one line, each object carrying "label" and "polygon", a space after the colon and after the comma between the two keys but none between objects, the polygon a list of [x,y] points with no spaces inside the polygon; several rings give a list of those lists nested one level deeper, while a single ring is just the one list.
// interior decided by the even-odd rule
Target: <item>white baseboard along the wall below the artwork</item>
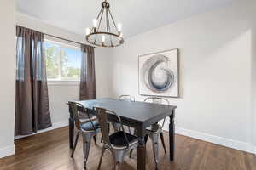
[{"label": "white baseboard along the wall below the artwork", "polygon": [[[168,131],[168,128],[166,126],[164,127],[164,129]],[[175,127],[175,133],[188,136],[194,139],[204,140],[212,144],[219,144],[232,149],[242,150],[242,151],[256,154],[256,148],[252,144],[248,144],[238,140],[226,139],[219,136],[215,136],[207,133],[200,133],[200,132],[188,130],[181,127]]]}]

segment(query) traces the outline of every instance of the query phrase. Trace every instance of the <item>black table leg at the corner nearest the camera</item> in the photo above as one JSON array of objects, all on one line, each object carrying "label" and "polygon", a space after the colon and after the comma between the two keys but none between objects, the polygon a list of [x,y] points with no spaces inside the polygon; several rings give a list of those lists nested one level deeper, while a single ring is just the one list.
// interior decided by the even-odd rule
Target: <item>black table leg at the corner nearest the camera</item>
[{"label": "black table leg at the corner nearest the camera", "polygon": [[146,170],[146,145],[143,135],[143,127],[137,128],[137,170]]}]

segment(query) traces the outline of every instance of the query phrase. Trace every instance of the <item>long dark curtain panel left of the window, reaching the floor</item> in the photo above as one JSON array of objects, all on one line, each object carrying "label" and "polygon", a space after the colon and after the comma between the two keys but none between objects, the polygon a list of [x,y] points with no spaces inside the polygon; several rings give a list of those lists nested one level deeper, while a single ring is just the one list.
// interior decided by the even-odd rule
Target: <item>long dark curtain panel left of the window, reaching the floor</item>
[{"label": "long dark curtain panel left of the window, reaching the floor", "polygon": [[44,61],[44,34],[16,26],[15,135],[51,127]]}]

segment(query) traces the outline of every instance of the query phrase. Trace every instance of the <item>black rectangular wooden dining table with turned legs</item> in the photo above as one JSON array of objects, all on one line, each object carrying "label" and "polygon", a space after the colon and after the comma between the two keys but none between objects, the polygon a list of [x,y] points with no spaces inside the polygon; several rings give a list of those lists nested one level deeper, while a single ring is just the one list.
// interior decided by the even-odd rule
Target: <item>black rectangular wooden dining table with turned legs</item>
[{"label": "black rectangular wooden dining table with turned legs", "polygon": [[[177,109],[176,105],[161,105],[110,98],[89,99],[78,102],[89,109],[89,111],[93,111],[93,108],[95,107],[101,107],[109,111],[114,111],[120,116],[121,121],[125,126],[133,127],[137,130],[137,170],[146,170],[146,144],[144,138],[146,128],[169,116],[169,154],[170,161],[174,161],[174,118],[175,110]],[[70,148],[73,148],[74,114],[71,108],[69,108],[69,113],[69,146]],[[115,122],[116,119],[109,114],[108,121]]]}]

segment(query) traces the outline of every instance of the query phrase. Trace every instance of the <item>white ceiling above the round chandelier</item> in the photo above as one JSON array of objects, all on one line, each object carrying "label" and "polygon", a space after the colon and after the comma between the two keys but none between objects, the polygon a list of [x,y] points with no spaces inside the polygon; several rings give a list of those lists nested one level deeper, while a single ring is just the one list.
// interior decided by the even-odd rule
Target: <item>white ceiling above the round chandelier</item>
[{"label": "white ceiling above the round chandelier", "polygon": [[[232,0],[109,0],[116,22],[131,37],[192,14],[218,8]],[[85,34],[100,11],[102,0],[16,0],[17,11],[53,26]]]}]

